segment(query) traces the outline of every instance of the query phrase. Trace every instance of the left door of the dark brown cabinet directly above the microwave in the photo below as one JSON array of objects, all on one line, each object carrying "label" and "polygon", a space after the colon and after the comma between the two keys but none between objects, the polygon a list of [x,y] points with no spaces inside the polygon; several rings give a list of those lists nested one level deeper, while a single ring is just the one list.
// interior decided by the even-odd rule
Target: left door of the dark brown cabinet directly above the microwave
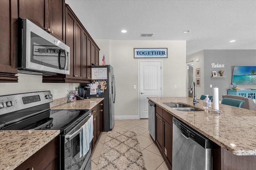
[{"label": "left door of the dark brown cabinet directly above the microwave", "polygon": [[26,18],[48,30],[48,0],[19,0],[18,3],[20,18]]}]

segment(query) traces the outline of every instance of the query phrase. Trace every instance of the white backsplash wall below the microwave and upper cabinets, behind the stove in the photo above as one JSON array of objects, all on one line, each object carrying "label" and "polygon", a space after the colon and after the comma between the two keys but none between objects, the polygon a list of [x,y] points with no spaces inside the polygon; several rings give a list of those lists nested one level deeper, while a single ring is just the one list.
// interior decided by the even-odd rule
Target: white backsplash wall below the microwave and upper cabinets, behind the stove
[{"label": "white backsplash wall below the microwave and upper cabinets, behind the stove", "polygon": [[[67,96],[66,88],[74,90],[79,84],[76,83],[42,83],[42,76],[30,74],[17,74],[18,83],[0,83],[0,96],[48,91],[53,94],[53,99],[64,98]],[[57,88],[57,95],[54,94],[54,88]]]}]

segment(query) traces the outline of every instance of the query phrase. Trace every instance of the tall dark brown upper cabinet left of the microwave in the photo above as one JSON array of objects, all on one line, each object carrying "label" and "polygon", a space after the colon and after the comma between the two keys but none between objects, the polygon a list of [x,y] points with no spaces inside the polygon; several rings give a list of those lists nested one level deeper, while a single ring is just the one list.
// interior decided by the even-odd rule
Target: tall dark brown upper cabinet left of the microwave
[{"label": "tall dark brown upper cabinet left of the microwave", "polygon": [[[0,82],[18,82],[16,37],[18,0],[0,0]],[[3,41],[4,40],[4,41]]]}]

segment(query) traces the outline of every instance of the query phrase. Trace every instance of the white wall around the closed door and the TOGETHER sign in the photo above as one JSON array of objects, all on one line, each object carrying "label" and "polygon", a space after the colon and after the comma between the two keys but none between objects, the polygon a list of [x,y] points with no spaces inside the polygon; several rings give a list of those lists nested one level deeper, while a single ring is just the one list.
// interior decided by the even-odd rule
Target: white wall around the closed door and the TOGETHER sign
[{"label": "white wall around the closed door and the TOGETHER sign", "polygon": [[[101,39],[95,42],[106,58],[108,51],[104,51],[107,50],[104,43],[108,46],[108,42]],[[116,116],[138,116],[138,88],[134,89],[134,85],[138,87],[138,59],[134,59],[134,48],[168,48],[167,59],[150,59],[163,61],[163,96],[186,96],[186,41],[110,40],[110,65],[114,67],[116,79]]]}]

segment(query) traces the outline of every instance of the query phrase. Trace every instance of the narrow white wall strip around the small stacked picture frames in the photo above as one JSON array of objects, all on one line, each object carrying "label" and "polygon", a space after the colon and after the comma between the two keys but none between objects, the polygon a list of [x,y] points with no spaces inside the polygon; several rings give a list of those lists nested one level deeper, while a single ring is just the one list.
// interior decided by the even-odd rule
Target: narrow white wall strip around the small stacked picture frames
[{"label": "narrow white wall strip around the small stacked picture frames", "polygon": [[[196,62],[196,59],[199,59],[198,62]],[[186,62],[194,61],[194,67],[193,67],[193,81],[196,82],[196,78],[200,78],[201,84],[200,86],[196,86],[196,98],[200,99],[200,96],[204,94],[204,51],[199,51],[198,53],[195,53],[194,55],[187,57]],[[196,68],[200,68],[201,74],[200,76],[196,77]],[[211,94],[209,94],[211,95]]]}]

